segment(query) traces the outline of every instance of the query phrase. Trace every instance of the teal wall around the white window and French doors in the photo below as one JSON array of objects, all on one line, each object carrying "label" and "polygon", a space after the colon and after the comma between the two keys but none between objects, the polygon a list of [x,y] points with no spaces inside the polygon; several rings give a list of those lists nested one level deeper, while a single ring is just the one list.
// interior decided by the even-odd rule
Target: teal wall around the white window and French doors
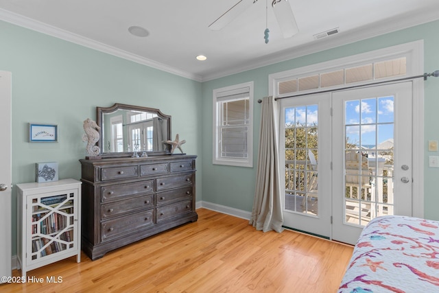
[{"label": "teal wall around the white window and French doors", "polygon": [[[257,165],[257,144],[259,139],[259,123],[261,105],[256,101],[268,95],[268,75],[313,65],[319,62],[343,58],[355,54],[361,54],[375,49],[390,47],[409,43],[414,40],[424,40],[425,49],[425,72],[432,72],[439,69],[439,21],[418,25],[406,30],[377,36],[368,40],[361,40],[356,43],[344,45],[334,49],[328,49],[316,54],[309,54],[300,58],[279,62],[274,65],[261,67],[218,78],[202,85],[202,168],[203,168],[203,201],[221,204],[235,209],[252,211],[254,185]],[[270,45],[270,44],[268,44]],[[261,42],[261,46],[265,46]],[[257,49],[255,47],[254,49]],[[242,82],[254,81],[254,167],[228,167],[212,164],[212,91],[213,89],[239,84]],[[425,82],[425,142],[428,140],[439,140],[439,78],[430,78]],[[424,143],[427,145],[427,143]],[[425,146],[426,148],[426,146]],[[428,155],[438,152],[428,152],[425,149],[425,218],[439,220],[439,191],[438,178],[439,169],[428,167]]]}]

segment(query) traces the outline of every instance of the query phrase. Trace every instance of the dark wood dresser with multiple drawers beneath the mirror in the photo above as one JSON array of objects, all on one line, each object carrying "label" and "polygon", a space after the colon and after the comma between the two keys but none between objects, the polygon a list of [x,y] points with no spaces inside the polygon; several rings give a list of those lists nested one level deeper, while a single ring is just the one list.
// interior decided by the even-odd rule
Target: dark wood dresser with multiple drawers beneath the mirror
[{"label": "dark wood dresser with multiple drawers beneath the mirror", "polygon": [[195,222],[196,157],[80,160],[84,253],[99,259],[115,248]]}]

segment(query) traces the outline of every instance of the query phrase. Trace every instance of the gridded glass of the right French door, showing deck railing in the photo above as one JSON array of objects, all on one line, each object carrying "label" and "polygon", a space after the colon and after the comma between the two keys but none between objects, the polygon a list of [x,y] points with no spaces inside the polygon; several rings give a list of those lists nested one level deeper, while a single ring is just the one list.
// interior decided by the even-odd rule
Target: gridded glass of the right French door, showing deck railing
[{"label": "gridded glass of the right French door, showing deck railing", "polygon": [[345,103],[346,223],[364,226],[393,214],[393,101],[374,97]]}]

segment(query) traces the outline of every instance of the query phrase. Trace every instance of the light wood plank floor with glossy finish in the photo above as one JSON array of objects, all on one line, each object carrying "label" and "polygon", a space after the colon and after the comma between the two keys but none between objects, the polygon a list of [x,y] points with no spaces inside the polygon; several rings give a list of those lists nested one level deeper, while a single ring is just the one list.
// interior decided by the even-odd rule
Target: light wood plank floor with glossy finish
[{"label": "light wood plank floor with glossy finish", "polygon": [[[91,261],[82,253],[29,271],[62,283],[3,284],[0,292],[337,292],[353,248],[293,231],[256,231],[207,209],[198,222]],[[14,276],[21,272],[13,271]]]}]

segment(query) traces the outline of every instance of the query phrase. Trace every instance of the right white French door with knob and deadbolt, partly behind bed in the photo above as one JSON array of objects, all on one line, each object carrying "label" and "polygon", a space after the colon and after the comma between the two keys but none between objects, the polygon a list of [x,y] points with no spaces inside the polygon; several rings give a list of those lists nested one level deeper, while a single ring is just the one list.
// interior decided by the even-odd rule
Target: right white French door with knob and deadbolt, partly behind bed
[{"label": "right white French door with knob and deadbolt, partly behind bed", "polygon": [[412,215],[412,82],[333,93],[332,238],[355,244],[381,215]]}]

